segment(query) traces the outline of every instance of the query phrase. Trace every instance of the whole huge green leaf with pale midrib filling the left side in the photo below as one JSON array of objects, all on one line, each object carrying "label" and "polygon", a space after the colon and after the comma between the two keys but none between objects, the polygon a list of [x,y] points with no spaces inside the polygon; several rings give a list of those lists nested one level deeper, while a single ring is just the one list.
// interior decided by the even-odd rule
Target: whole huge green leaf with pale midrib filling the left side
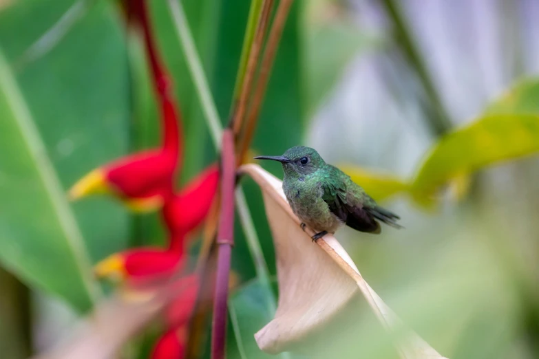
[{"label": "whole huge green leaf with pale midrib filling the left side", "polygon": [[[1,153],[13,155],[0,160],[0,202],[9,208],[0,215],[0,237],[11,248],[1,250],[0,257],[30,285],[85,310],[93,283],[83,279],[91,273],[87,257],[103,259],[125,248],[127,240],[129,217],[118,203],[87,199],[74,204],[73,215],[64,194],[89,170],[127,152],[129,82],[114,4],[98,2],[54,47],[35,61],[19,62],[71,4],[21,1],[0,13],[2,50],[11,67],[17,66],[10,74],[3,61],[8,88],[2,88],[6,130],[0,131],[0,146]],[[28,127],[34,133],[30,138]],[[43,163],[49,177],[43,177]]]}]

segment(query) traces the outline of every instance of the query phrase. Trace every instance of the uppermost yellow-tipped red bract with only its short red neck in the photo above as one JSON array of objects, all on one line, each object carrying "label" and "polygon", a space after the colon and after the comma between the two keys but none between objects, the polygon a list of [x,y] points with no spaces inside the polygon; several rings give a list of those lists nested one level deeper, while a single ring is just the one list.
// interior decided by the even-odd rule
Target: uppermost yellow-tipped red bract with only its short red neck
[{"label": "uppermost yellow-tipped red bract with only its short red neck", "polygon": [[120,158],[95,169],[70,190],[70,198],[112,194],[137,212],[160,208],[173,193],[173,180],[180,156],[176,109],[162,101],[163,144],[161,149]]}]

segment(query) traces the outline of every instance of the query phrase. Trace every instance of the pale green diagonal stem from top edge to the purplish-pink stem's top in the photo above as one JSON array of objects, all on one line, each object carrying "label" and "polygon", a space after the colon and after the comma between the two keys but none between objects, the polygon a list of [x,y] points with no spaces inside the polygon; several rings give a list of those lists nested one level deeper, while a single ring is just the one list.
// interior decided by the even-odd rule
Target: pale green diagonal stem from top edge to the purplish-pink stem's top
[{"label": "pale green diagonal stem from top edge to the purplish-pink stem's top", "polygon": [[193,83],[195,83],[195,88],[200,98],[204,118],[207,120],[211,133],[211,139],[213,140],[215,149],[220,149],[222,124],[219,119],[217,107],[215,107],[215,102],[213,101],[213,96],[211,96],[208,80],[204,75],[202,61],[200,61],[191,30],[189,30],[189,24],[187,23],[182,3],[178,0],[169,0],[169,8],[172,13],[176,34],[178,34],[185,58],[187,59],[189,72],[193,77]]}]

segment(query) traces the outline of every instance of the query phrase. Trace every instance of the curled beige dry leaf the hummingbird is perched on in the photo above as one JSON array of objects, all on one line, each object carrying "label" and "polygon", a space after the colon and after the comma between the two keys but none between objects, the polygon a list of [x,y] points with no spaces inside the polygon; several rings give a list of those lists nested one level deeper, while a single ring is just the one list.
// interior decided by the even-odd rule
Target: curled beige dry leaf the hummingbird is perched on
[{"label": "curled beige dry leaf the hummingbird is perched on", "polygon": [[[266,215],[277,257],[279,303],[275,318],[255,334],[262,351],[290,351],[335,318],[361,294],[383,328],[394,338],[401,358],[443,358],[410,329],[406,329],[357,270],[337,239],[326,235],[311,242],[293,214],[282,182],[255,164],[240,167],[262,188]],[[315,263],[315,265],[313,265]]]}]

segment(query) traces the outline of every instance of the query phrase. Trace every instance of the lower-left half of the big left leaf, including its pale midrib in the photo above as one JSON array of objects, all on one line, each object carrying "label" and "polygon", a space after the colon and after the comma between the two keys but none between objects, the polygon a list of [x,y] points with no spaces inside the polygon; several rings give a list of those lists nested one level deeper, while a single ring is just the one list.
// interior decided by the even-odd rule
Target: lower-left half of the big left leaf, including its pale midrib
[{"label": "lower-left half of the big left leaf, including its pale midrib", "polygon": [[0,259],[22,279],[89,309],[83,237],[34,119],[0,53]]}]

